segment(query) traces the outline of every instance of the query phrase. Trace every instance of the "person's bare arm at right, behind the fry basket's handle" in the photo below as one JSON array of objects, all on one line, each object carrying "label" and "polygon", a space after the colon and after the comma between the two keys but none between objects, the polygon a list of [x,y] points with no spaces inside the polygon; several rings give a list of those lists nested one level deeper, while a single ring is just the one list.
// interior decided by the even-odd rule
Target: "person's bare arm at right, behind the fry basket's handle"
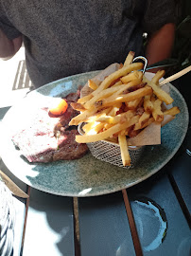
[{"label": "person's bare arm at right, behind the fry basket's handle", "polygon": [[174,44],[174,35],[175,25],[168,23],[148,38],[148,46],[146,48],[148,64],[154,64],[170,57]]}]

